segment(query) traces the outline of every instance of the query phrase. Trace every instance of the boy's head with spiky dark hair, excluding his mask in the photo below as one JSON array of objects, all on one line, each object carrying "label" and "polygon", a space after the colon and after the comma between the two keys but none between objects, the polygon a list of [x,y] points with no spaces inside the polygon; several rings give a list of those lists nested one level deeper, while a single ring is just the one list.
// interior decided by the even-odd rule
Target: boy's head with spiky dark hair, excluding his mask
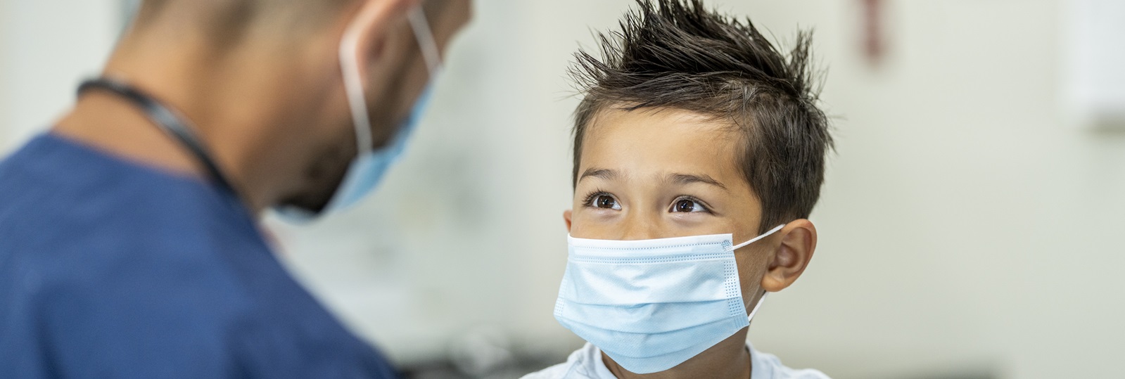
[{"label": "boy's head with spiky dark hair, excluding his mask", "polygon": [[808,65],[750,24],[699,0],[640,0],[601,57],[577,54],[584,99],[574,129],[575,237],[645,240],[778,233],[736,254],[748,309],[804,270],[806,218],[831,146]]}]

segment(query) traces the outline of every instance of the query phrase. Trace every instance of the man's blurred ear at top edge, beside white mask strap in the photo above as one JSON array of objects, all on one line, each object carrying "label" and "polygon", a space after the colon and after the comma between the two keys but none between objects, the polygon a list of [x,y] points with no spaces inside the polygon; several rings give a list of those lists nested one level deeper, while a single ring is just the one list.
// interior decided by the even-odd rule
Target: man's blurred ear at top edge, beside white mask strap
[{"label": "man's blurred ear at top edge, beside white mask strap", "polygon": [[[387,39],[398,26],[396,21],[405,20],[406,12],[417,6],[421,0],[363,0],[353,12],[346,12],[350,18],[344,38],[356,38],[356,55],[360,69],[360,80],[367,82],[368,70],[374,60],[380,56]],[[349,53],[350,54],[350,53]]]}]

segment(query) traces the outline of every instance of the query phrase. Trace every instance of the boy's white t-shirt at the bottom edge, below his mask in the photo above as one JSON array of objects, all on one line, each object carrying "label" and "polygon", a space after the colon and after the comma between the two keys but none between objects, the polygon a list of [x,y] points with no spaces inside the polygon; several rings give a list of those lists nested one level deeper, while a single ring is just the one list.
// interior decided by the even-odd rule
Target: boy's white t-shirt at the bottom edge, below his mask
[{"label": "boy's white t-shirt at the bottom edge, below his mask", "polygon": [[[750,351],[750,379],[829,379],[817,370],[793,370],[784,367],[777,357],[754,350],[749,342],[746,343],[746,349]],[[582,349],[570,353],[565,363],[529,373],[522,379],[616,379],[616,377],[602,362],[602,350],[586,343]]]}]

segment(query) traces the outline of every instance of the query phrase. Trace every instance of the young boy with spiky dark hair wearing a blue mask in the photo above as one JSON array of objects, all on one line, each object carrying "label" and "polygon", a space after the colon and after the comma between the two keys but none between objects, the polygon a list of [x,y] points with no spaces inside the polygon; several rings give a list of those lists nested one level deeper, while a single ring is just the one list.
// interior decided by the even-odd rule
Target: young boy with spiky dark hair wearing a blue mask
[{"label": "young boy with spiky dark hair wearing a blue mask", "polygon": [[809,37],[786,55],[699,0],[638,0],[579,52],[555,316],[590,343],[525,378],[827,378],[746,342],[812,259],[831,146]]}]

